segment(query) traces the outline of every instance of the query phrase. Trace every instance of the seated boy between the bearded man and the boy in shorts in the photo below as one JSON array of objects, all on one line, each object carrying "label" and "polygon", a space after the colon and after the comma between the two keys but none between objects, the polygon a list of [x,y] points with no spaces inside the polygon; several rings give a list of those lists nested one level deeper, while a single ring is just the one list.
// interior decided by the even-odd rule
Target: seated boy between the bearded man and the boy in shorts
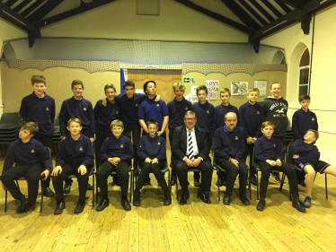
[{"label": "seated boy between the bearded man and the boy in shorts", "polygon": [[284,148],[281,141],[272,137],[274,124],[270,121],[261,124],[262,136],[254,143],[256,162],[261,169],[261,192],[257,210],[262,211],[266,206],[266,192],[269,186],[270,172],[275,169],[282,170],[288,178],[289,189],[293,196],[292,206],[299,212],[305,212],[305,205],[300,201],[296,183],[296,172],[287,163],[284,163]]}]

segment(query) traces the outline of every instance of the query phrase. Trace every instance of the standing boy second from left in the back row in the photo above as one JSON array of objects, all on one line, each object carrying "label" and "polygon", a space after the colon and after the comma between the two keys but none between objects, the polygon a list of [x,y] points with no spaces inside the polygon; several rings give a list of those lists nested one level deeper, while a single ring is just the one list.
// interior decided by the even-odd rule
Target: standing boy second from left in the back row
[{"label": "standing boy second from left in the back row", "polygon": [[[67,122],[70,118],[76,117],[81,123],[81,133],[90,138],[90,141],[94,141],[95,133],[95,120],[93,115],[93,104],[90,100],[84,99],[84,83],[80,80],[75,80],[71,83],[71,90],[74,96],[70,99],[62,102],[62,107],[59,112],[59,131],[62,135],[62,140],[69,135],[66,130]],[[64,193],[69,194],[72,184],[72,179],[66,178],[66,184],[64,186]],[[93,187],[88,184],[88,190],[93,190]]]}]

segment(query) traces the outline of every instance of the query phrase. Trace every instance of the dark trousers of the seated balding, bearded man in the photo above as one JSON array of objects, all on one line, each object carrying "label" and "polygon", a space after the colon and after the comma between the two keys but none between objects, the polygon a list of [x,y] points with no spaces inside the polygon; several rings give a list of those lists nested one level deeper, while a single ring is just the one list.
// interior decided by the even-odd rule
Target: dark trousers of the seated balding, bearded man
[{"label": "dark trousers of the seated balding, bearded man", "polygon": [[225,159],[216,159],[217,165],[226,170],[226,192],[228,196],[232,196],[234,191],[234,181],[239,175],[239,197],[246,197],[247,186],[247,167],[244,160],[239,161],[239,167],[236,167],[230,161]]}]

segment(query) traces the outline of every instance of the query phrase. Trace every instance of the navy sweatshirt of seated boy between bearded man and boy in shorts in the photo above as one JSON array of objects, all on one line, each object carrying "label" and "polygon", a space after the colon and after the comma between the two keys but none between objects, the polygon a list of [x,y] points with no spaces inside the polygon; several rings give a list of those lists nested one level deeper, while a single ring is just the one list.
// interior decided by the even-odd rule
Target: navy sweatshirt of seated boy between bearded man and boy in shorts
[{"label": "navy sweatshirt of seated boy between bearded man and boy in shorts", "polygon": [[283,161],[285,156],[284,147],[278,138],[270,137],[268,139],[262,135],[254,143],[254,156],[257,161]]}]

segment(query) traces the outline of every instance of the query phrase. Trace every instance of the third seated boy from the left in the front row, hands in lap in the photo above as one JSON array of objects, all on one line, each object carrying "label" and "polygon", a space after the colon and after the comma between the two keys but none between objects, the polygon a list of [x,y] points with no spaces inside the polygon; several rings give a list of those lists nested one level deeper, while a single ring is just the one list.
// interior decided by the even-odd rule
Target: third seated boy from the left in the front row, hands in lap
[{"label": "third seated boy from the left in the front row, hands in lap", "polygon": [[102,166],[97,172],[102,201],[96,210],[102,211],[109,206],[107,178],[112,171],[116,171],[121,187],[121,205],[128,211],[131,209],[128,202],[128,167],[133,158],[133,144],[127,136],[122,135],[124,124],[120,120],[111,122],[111,131],[113,135],[107,137],[102,143]]}]

